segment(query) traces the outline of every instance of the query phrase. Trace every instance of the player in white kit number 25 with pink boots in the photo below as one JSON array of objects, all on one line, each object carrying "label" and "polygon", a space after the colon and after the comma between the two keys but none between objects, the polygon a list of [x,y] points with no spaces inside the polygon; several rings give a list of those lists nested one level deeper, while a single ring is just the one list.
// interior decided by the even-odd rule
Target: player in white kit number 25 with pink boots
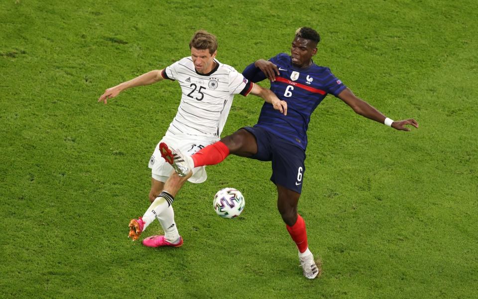
[{"label": "player in white kit number 25 with pink boots", "polygon": [[[183,244],[174,221],[171,204],[186,178],[175,176],[175,179],[166,182],[174,170],[161,157],[161,143],[191,155],[219,141],[236,94],[247,96],[251,93],[271,103],[274,109],[281,113],[286,114],[287,111],[286,102],[279,100],[269,89],[248,81],[233,67],[215,59],[218,44],[213,34],[204,30],[195,32],[189,47],[190,57],[184,57],[162,70],[150,71],[109,88],[98,99],[99,102],[107,104],[108,99],[116,97],[125,89],[156,83],[163,79],[177,80],[181,86],[182,96],[178,112],[149,160],[151,205],[143,217],[132,219],[129,223],[128,237],[137,240],[155,218],[159,220],[165,234],[144,239],[142,243],[148,247],[179,247]],[[193,175],[187,180],[201,183],[206,178],[206,170],[201,166],[194,168]]]}]

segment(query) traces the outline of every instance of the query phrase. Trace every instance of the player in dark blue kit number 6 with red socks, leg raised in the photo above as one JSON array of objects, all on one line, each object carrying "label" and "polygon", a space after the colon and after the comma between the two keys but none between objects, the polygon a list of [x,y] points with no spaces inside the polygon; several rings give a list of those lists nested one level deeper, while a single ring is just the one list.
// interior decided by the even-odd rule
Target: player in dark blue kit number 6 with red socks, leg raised
[{"label": "player in dark blue kit number 6 with red socks, leg raised", "polygon": [[316,278],[319,269],[308,248],[305,222],[297,213],[297,204],[304,180],[306,132],[310,116],[317,105],[327,94],[332,94],[368,119],[396,130],[410,131],[406,125],[418,128],[414,119],[392,121],[386,118],[355,96],[329,68],[316,65],[312,57],[317,53],[319,41],[317,31],[301,27],[295,33],[290,56],[281,53],[269,61],[260,59],[242,72],[252,82],[269,79],[270,89],[279,99],[287,102],[287,115],[274,110],[271,104],[264,103],[255,126],[241,128],[192,156],[184,156],[176,149],[160,145],[163,157],[173,165],[177,175],[182,177],[191,175],[193,167],[217,164],[231,153],[272,161],[270,180],[277,187],[277,208],[297,245],[303,274],[308,279]]}]

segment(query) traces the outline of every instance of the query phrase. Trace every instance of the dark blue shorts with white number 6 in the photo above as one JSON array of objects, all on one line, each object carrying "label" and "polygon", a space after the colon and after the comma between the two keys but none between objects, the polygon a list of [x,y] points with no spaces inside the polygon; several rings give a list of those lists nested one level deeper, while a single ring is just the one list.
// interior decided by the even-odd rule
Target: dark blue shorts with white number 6
[{"label": "dark blue shorts with white number 6", "polygon": [[276,185],[301,193],[305,172],[305,151],[263,128],[242,129],[254,135],[257,142],[257,153],[250,158],[272,161],[270,180]]}]

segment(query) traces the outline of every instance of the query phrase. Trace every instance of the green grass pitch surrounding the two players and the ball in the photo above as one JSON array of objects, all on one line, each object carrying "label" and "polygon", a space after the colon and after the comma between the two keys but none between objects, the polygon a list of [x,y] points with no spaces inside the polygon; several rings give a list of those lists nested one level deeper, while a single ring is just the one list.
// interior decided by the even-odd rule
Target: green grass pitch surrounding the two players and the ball
[{"label": "green grass pitch surrounding the two players and the ball", "polygon": [[[477,11],[471,0],[1,1],[0,297],[477,298]],[[321,33],[316,63],[420,124],[397,132],[331,96],[317,108],[299,211],[323,276],[302,277],[270,163],[236,156],[177,196],[183,247],[129,241],[180,89],[97,98],[189,55],[197,29],[242,70],[287,52],[300,25]],[[260,105],[236,97],[223,135],[253,125]],[[225,186],[246,198],[239,219],[212,209]]]}]

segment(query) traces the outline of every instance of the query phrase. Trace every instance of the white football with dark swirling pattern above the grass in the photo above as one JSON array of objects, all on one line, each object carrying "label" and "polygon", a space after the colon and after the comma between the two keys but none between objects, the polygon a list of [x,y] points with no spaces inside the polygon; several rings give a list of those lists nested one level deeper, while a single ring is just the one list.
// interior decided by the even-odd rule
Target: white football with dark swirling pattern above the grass
[{"label": "white football with dark swirling pattern above the grass", "polygon": [[244,209],[245,199],[235,188],[224,188],[214,195],[213,207],[224,218],[238,217]]}]

